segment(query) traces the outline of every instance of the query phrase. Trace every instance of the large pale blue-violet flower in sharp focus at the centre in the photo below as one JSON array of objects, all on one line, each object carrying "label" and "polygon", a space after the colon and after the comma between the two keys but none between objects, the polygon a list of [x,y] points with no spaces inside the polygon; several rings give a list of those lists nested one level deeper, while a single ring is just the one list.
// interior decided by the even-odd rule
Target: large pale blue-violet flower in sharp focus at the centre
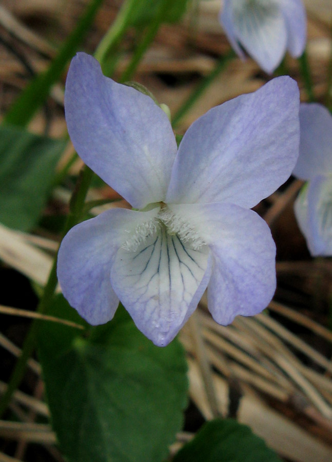
[{"label": "large pale blue-violet flower in sharp focus at the centre", "polygon": [[276,287],[275,243],[250,207],[290,175],[299,150],[299,91],[279,77],[209,110],[179,149],[165,112],[71,62],[70,138],[84,162],[136,210],[113,208],[74,226],[58,256],[64,296],[90,324],[119,299],[155,344],[169,343],[208,288],[220,324],[262,311]]}]

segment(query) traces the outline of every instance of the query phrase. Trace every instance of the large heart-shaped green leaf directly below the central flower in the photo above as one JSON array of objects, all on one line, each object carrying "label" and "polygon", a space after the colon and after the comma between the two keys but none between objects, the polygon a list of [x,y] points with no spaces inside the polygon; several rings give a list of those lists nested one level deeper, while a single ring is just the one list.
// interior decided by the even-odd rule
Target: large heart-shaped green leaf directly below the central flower
[{"label": "large heart-shaped green leaf directly below the central flower", "polygon": [[[53,314],[66,313],[75,320],[58,297]],[[38,343],[53,429],[68,460],[159,462],[167,456],[187,400],[177,340],[155,347],[120,307],[85,337],[44,323]]]}]

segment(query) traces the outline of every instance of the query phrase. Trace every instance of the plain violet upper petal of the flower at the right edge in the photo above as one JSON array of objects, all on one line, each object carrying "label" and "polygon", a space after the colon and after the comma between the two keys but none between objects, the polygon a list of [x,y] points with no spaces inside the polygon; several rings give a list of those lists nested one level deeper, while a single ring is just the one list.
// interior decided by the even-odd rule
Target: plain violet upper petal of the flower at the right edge
[{"label": "plain violet upper petal of the flower at the right edge", "polygon": [[321,104],[300,105],[300,156],[293,174],[303,180],[332,173],[332,117]]}]

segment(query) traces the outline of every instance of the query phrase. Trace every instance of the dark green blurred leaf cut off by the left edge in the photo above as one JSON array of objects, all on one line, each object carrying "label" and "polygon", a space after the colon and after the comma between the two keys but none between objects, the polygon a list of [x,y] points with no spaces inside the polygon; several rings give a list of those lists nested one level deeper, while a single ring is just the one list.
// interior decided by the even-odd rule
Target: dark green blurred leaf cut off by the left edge
[{"label": "dark green blurred leaf cut off by the left edge", "polygon": [[36,224],[66,143],[0,126],[0,222],[26,231]]}]

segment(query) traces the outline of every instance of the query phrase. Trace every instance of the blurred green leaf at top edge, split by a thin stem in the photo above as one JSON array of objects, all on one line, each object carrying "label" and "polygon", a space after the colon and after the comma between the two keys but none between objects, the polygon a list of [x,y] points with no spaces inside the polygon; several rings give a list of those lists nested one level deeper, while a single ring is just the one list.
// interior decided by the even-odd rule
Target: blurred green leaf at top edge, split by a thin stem
[{"label": "blurred green leaf at top edge, split by a thin stem", "polygon": [[167,2],[168,7],[163,18],[164,23],[176,23],[185,13],[188,0],[138,0],[131,24],[142,27],[154,20],[162,3]]}]

